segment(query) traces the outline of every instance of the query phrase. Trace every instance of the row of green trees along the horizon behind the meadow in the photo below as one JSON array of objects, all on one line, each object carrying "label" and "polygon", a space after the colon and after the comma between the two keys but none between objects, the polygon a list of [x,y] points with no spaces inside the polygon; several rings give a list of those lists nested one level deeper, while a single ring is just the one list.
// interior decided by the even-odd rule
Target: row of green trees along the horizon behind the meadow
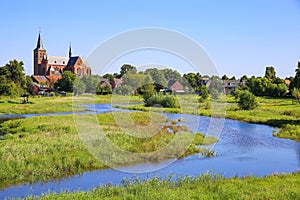
[{"label": "row of green trees along the horizon behind the meadow", "polygon": [[[137,71],[135,66],[124,64],[120,68],[119,73],[105,74],[103,77],[98,75],[84,76],[78,79],[75,74],[70,71],[64,71],[62,78],[54,84],[57,90],[64,90],[66,92],[81,93],[100,93],[107,90],[111,93],[111,88],[107,86],[100,86],[99,82],[102,78],[107,79],[110,83],[114,78],[121,78],[123,84],[116,88],[116,94],[132,94],[133,91],[138,94],[145,93],[147,87],[153,88],[156,92],[168,87],[170,79],[178,80],[185,91],[197,92],[203,99],[206,99],[210,94],[213,98],[217,98],[218,94],[222,93],[224,80],[236,80],[233,76],[229,78],[223,75],[218,76],[202,76],[200,73],[186,73],[181,75],[178,71],[172,69],[157,69],[150,68],[145,71]],[[201,84],[203,79],[209,79],[210,86],[206,87]],[[272,96],[283,97],[290,93],[299,99],[300,90],[300,62],[298,62],[295,70],[295,76],[286,79],[281,79],[276,76],[275,68],[266,67],[265,75],[263,77],[252,76],[248,78],[246,75],[242,76],[238,90],[248,90],[255,96]],[[288,80],[288,85],[285,81]],[[149,86],[149,83],[152,86]],[[0,95],[5,96],[22,96],[32,93],[32,79],[30,76],[25,76],[24,63],[22,61],[12,60],[5,66],[0,67]],[[148,86],[147,86],[148,84]],[[144,86],[145,85],[145,86]],[[143,87],[141,87],[143,86]],[[235,95],[236,92],[233,94]]]}]

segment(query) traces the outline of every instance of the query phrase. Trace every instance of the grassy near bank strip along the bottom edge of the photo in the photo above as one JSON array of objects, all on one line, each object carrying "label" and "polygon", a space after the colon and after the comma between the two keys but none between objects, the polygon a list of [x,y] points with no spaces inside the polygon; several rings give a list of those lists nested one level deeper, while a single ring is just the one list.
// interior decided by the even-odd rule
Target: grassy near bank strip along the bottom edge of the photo
[{"label": "grassy near bank strip along the bottom edge of the photo", "polygon": [[[204,174],[196,178],[128,180],[117,187],[89,192],[44,195],[41,199],[299,199],[300,174],[265,178],[225,179]],[[33,197],[28,199],[34,199]]]}]

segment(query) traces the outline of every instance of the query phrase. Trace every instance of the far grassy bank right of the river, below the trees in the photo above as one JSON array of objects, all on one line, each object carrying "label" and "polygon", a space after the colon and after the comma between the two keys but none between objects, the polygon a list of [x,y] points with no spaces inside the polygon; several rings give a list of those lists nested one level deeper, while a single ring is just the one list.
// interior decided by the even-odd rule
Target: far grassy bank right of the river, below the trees
[{"label": "far grassy bank right of the river, below the trees", "polygon": [[236,100],[232,96],[221,96],[218,101],[196,102],[192,95],[179,96],[182,100],[181,108],[145,107],[144,105],[118,106],[131,110],[157,111],[168,113],[187,113],[202,116],[226,117],[228,119],[266,124],[280,128],[274,134],[277,137],[300,141],[300,105],[289,98],[258,97],[258,107],[254,110],[238,109]]}]

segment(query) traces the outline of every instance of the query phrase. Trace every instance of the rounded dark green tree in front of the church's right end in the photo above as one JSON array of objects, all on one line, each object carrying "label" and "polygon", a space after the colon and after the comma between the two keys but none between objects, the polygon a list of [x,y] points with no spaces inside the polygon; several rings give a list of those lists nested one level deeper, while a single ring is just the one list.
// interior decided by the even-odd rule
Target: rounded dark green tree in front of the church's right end
[{"label": "rounded dark green tree in front of the church's right end", "polygon": [[54,87],[58,90],[73,92],[73,84],[75,79],[76,75],[73,74],[71,71],[64,71],[62,73],[62,78],[54,84]]}]

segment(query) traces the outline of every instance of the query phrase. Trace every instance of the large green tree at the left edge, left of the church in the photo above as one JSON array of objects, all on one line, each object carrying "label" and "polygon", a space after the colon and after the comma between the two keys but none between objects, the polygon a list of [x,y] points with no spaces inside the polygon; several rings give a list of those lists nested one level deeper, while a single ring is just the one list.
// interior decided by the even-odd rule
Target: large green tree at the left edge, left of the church
[{"label": "large green tree at the left edge, left of the church", "polygon": [[9,61],[0,67],[0,95],[21,96],[26,91],[24,63],[17,60]]}]

